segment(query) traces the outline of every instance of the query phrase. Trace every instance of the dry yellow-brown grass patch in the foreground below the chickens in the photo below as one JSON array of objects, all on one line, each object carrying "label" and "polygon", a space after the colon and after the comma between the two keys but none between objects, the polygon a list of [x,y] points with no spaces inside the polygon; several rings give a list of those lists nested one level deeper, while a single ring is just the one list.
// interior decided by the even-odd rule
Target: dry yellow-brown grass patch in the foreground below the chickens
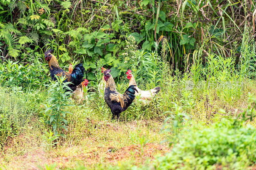
[{"label": "dry yellow-brown grass patch in the foreground below the chickens", "polygon": [[[156,154],[170,152],[166,144],[159,144],[164,139],[164,134],[159,133],[161,122],[92,122],[96,129],[93,133],[85,133],[82,139],[73,139],[72,142],[69,139],[61,140],[50,153],[44,152],[39,131],[12,138],[0,156],[0,165],[6,169],[37,169],[38,166],[54,163],[61,168],[74,167],[77,162],[83,162],[84,166],[98,162],[117,164],[125,160],[141,163],[148,158],[154,159]],[[141,154],[141,146],[135,138],[143,135],[150,142],[146,143]]]}]

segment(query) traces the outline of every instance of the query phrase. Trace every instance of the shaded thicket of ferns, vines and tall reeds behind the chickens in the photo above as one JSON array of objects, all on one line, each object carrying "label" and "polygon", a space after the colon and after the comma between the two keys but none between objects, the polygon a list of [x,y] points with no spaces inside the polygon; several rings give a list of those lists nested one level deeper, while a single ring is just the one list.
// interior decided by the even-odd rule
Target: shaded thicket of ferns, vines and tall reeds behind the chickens
[{"label": "shaded thicket of ferns, vines and tall reeds behind the chickens", "polygon": [[4,59],[26,64],[32,62],[34,54],[40,54],[45,62],[44,51],[50,47],[60,66],[77,60],[84,63],[89,80],[93,80],[95,61],[100,58],[115,72],[114,77],[123,75],[122,54],[129,35],[135,38],[139,49],[148,51],[154,49],[154,42],[161,49],[166,38],[166,60],[184,72],[195,62],[195,47],[205,34],[205,25],[212,24],[206,49],[225,57],[231,54],[235,38],[241,45],[245,25],[255,29],[255,3],[249,0],[1,0],[0,9]]}]

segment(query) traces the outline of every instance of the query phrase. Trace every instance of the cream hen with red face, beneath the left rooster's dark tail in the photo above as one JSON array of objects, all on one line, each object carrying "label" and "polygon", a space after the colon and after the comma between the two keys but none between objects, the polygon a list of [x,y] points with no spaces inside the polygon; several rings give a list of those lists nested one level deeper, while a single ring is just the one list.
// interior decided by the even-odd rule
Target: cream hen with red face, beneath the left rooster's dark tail
[{"label": "cream hen with red face, beneath the left rooster's dark tail", "polygon": [[87,103],[88,97],[87,97],[87,93],[84,95],[84,88],[86,88],[88,84],[89,84],[89,81],[87,79],[84,79],[84,81],[79,86],[77,86],[76,90],[71,95],[71,99],[75,100],[77,103],[80,103],[81,100],[85,100]]}]

